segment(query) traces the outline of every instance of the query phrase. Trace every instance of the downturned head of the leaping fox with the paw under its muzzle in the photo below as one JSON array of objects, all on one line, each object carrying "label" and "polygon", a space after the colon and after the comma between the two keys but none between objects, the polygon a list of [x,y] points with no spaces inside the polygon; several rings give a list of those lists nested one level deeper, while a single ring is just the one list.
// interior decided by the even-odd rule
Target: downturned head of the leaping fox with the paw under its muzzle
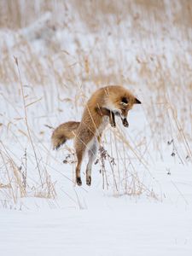
[{"label": "downturned head of the leaping fox with the paw under its muzzle", "polygon": [[108,107],[106,107],[113,111],[113,113],[118,114],[123,121],[123,125],[128,126],[127,115],[129,110],[131,110],[134,104],[141,104],[142,102],[122,86],[108,86],[107,90]]}]

